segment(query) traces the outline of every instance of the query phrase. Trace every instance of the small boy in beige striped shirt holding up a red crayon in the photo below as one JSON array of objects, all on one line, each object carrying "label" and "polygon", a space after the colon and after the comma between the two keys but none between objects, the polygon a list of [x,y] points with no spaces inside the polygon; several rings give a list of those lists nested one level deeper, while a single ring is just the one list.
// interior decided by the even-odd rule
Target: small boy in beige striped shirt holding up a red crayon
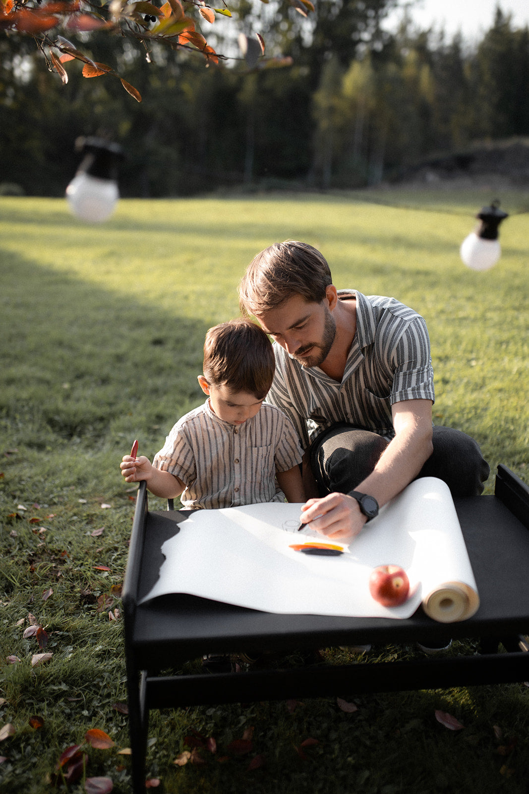
[{"label": "small boy in beige striped shirt holding up a red crayon", "polygon": [[194,509],[282,502],[285,496],[305,502],[296,430],[281,410],[263,405],[274,370],[270,340],[254,322],[210,328],[198,376],[208,399],[174,425],[152,464],[125,455],[125,482],[147,480],[151,493],[180,496],[182,507]]}]

